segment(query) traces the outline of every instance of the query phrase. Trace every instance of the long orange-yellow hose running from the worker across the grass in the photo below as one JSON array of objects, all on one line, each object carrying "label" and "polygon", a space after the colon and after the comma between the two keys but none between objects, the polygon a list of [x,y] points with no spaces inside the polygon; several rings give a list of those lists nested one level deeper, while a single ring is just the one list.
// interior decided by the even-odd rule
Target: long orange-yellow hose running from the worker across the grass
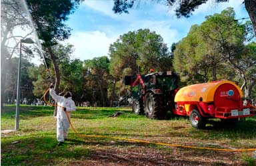
[{"label": "long orange-yellow hose running from the worker across the grass", "polygon": [[[45,96],[47,94],[47,92],[49,92],[49,89],[45,92],[44,96],[43,96],[43,100],[45,100]],[[45,103],[50,105],[50,106],[58,106],[58,105],[54,105],[51,104],[49,102],[47,102],[45,100]],[[58,106],[63,108],[63,106]],[[190,148],[190,149],[207,149],[207,150],[211,150],[211,151],[256,151],[256,149],[219,149],[219,148],[212,148],[212,147],[196,147],[196,146],[188,146],[188,145],[177,145],[177,144],[171,144],[171,143],[161,143],[161,142],[151,142],[151,141],[145,141],[145,140],[141,140],[141,139],[129,139],[129,138],[124,138],[124,137],[111,137],[111,136],[105,136],[105,135],[83,135],[79,132],[77,132],[77,130],[75,129],[75,127],[73,126],[73,124],[71,123],[71,120],[66,113],[67,119],[69,120],[69,124],[71,125],[73,131],[79,135],[79,137],[102,137],[102,138],[111,138],[111,139],[119,139],[119,140],[125,140],[125,141],[131,141],[131,142],[137,142],[137,143],[151,143],[151,144],[155,144],[155,145],[165,145],[165,146],[169,146],[169,147],[185,147],[185,148]]]}]

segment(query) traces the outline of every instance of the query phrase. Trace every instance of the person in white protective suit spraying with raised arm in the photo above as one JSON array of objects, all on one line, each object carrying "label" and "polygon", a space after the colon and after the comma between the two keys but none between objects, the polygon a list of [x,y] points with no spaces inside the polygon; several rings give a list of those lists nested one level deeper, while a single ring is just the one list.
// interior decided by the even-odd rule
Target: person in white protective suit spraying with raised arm
[{"label": "person in white protective suit spraying with raised arm", "polygon": [[[67,112],[69,119],[71,112],[75,111],[75,102],[72,100],[71,92],[66,92],[64,96],[59,96],[53,89],[53,84],[50,85],[50,95],[57,102],[57,141],[58,146],[62,145],[67,140],[67,131],[69,129],[69,120],[67,119]],[[61,107],[59,107],[61,106]],[[63,108],[62,108],[63,107]]]}]

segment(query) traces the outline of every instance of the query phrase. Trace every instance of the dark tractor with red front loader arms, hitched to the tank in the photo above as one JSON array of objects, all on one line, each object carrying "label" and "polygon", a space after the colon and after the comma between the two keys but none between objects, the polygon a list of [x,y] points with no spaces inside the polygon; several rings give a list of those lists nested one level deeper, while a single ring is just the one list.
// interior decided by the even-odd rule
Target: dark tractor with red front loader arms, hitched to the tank
[{"label": "dark tractor with red front loader arms, hitched to the tank", "polygon": [[151,72],[145,76],[125,76],[124,84],[131,86],[132,109],[135,114],[163,120],[168,110],[175,108],[174,97],[179,76],[175,72]]}]

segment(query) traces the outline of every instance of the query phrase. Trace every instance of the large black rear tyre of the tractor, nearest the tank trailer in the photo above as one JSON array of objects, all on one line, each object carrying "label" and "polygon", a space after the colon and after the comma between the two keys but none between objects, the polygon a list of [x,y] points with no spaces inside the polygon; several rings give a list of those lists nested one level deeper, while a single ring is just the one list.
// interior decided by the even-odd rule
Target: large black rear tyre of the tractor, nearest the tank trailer
[{"label": "large black rear tyre of the tractor, nearest the tank trailer", "polygon": [[163,106],[163,96],[149,92],[145,96],[145,114],[147,118],[163,120],[166,110]]}]

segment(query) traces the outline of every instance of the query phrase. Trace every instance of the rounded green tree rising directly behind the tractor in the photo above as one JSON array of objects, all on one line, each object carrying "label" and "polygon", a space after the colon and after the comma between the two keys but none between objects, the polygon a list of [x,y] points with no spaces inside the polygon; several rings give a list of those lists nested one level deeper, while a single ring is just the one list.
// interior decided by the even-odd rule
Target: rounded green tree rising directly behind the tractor
[{"label": "rounded green tree rising directly behind the tractor", "polygon": [[[124,92],[123,76],[133,73],[147,74],[172,70],[173,56],[163,38],[149,29],[129,31],[109,46],[109,70],[121,94]],[[115,89],[115,88],[113,88]]]}]

